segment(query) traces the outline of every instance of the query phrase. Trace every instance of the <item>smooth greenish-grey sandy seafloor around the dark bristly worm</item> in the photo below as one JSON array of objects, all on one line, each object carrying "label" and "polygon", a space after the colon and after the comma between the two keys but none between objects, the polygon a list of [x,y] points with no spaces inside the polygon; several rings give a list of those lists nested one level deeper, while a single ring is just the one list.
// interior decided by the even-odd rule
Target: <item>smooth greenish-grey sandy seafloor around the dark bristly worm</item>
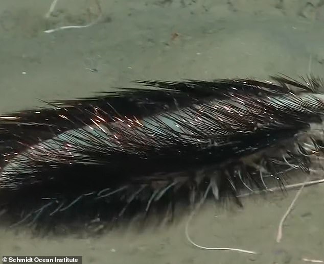
[{"label": "smooth greenish-grey sandy seafloor around the dark bristly worm", "polygon": [[[37,99],[91,95],[134,79],[321,76],[322,2],[100,0],[102,19],[96,25],[47,34],[43,31],[94,19],[96,1],[60,0],[44,18],[51,0],[1,0],[0,112],[42,106]],[[324,260],[324,185],[303,190],[285,222],[282,242],[275,242],[294,195],[248,198],[243,210],[206,205],[190,225],[200,245],[259,255],[194,248],[184,236],[186,218],[169,228],[114,231],[97,238],[35,238],[27,231],[0,230],[0,255],[83,255],[83,263],[107,264]]]}]

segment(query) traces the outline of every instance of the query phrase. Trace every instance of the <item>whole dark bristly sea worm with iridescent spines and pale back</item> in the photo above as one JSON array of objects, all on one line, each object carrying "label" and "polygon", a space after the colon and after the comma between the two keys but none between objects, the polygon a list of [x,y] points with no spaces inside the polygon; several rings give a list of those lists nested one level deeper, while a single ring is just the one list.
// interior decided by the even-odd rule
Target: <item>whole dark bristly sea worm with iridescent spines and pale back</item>
[{"label": "whole dark bristly sea worm with iridescent spines and pale back", "polygon": [[154,89],[1,116],[0,219],[55,229],[173,213],[208,197],[241,205],[320,166],[319,79],[138,84]]}]

